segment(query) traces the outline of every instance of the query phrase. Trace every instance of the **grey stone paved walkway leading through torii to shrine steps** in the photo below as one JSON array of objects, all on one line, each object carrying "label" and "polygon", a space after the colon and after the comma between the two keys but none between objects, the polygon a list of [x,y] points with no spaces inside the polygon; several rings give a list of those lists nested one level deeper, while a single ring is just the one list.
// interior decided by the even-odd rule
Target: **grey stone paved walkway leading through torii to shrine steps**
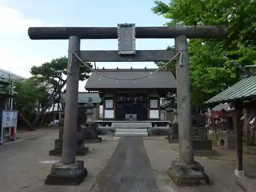
[{"label": "grey stone paved walkway leading through torii to shrine steps", "polygon": [[108,165],[90,192],[157,192],[158,187],[141,137],[121,137]]}]

